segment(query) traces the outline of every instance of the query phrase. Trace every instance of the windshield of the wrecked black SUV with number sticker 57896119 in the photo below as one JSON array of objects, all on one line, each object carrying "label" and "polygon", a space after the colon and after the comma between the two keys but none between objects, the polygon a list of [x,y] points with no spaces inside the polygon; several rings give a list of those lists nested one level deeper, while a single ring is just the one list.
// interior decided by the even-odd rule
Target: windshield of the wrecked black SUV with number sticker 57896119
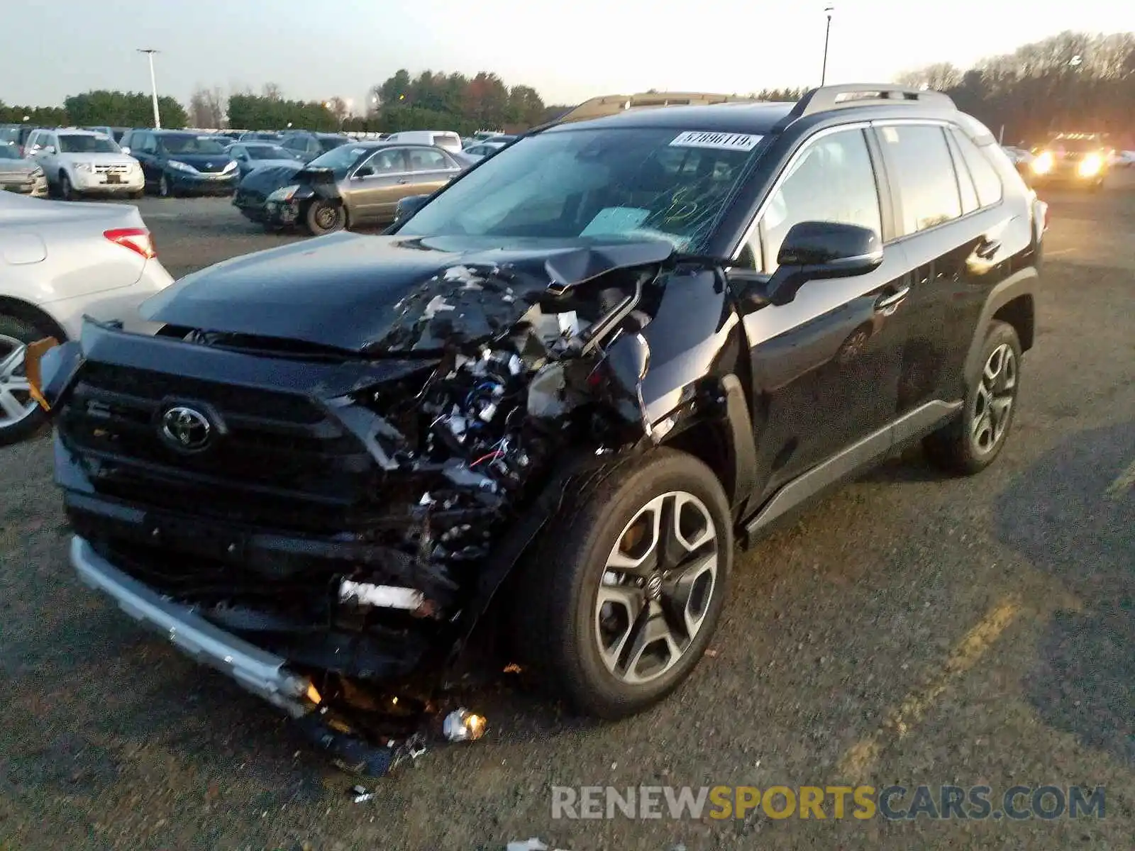
[{"label": "windshield of the wrecked black SUV with number sticker 57896119", "polygon": [[759,155],[759,138],[662,128],[543,133],[485,159],[398,233],[646,237],[697,251]]}]

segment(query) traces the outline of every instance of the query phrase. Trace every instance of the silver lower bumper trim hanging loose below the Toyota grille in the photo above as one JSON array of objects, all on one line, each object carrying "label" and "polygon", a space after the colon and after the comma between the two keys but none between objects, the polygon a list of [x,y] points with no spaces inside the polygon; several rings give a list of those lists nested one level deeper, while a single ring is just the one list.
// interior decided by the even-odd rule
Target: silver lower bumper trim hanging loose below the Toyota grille
[{"label": "silver lower bumper trim hanging loose below the Toyota grille", "polygon": [[287,669],[286,660],[218,629],[191,609],[131,579],[75,536],[70,563],[79,579],[111,597],[135,621],[165,633],[197,662],[232,676],[243,689],[300,718],[314,709],[312,682]]}]

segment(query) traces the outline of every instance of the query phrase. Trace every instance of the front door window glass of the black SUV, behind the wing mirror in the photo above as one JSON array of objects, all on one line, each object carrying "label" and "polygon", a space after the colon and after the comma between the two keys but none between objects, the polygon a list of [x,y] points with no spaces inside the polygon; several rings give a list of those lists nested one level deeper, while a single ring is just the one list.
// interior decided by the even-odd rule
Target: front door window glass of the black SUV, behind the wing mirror
[{"label": "front door window glass of the black SUV, behind the wing mirror", "polygon": [[784,237],[801,221],[835,221],[882,233],[875,170],[861,130],[833,133],[805,149],[768,200],[760,238],[754,235],[746,256],[760,262],[763,271],[775,271]]}]

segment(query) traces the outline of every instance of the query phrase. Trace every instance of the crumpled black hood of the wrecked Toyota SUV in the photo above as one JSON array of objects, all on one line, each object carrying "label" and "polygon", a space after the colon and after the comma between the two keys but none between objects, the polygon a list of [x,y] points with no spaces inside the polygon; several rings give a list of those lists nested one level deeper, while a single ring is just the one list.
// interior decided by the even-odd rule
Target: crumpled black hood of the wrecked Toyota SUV
[{"label": "crumpled black hood of the wrecked Toyota SUV", "polygon": [[[254,175],[255,172],[253,172]],[[367,355],[436,353],[507,331],[541,294],[665,261],[662,241],[339,233],[234,258],[142,305],[151,321]]]}]

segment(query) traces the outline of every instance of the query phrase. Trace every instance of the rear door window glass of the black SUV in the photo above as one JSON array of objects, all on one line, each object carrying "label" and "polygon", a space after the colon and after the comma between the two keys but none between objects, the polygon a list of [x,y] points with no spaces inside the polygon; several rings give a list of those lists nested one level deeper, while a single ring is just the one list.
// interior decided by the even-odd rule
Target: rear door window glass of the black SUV
[{"label": "rear door window glass of the black SUV", "polygon": [[891,183],[902,203],[899,234],[917,234],[961,216],[961,196],[941,127],[880,127]]}]

